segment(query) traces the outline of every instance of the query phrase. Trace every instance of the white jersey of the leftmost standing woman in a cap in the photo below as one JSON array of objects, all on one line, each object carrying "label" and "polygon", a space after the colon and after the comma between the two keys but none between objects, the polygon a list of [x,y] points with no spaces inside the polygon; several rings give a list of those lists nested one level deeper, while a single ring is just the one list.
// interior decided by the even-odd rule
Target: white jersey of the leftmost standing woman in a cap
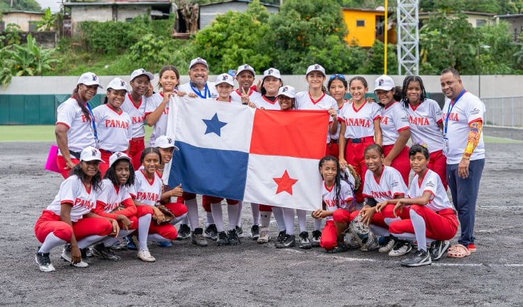
[{"label": "white jersey of the leftmost standing woman in a cap", "polygon": [[[56,110],[56,125],[66,125],[67,147],[71,151],[81,152],[84,148],[96,147],[93,123],[86,119],[82,108],[74,98],[61,103]],[[61,153],[59,152],[61,155]]]}]

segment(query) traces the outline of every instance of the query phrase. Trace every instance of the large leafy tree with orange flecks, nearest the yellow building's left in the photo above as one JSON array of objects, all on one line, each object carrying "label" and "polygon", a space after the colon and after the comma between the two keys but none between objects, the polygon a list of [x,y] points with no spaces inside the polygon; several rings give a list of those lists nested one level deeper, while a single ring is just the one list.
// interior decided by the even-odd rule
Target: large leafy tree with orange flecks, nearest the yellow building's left
[{"label": "large leafy tree with orange flecks, nearest the yellow building's left", "polygon": [[303,74],[319,63],[328,72],[348,73],[353,60],[344,40],[347,26],[335,0],[287,0],[269,17],[268,52],[282,73]]}]

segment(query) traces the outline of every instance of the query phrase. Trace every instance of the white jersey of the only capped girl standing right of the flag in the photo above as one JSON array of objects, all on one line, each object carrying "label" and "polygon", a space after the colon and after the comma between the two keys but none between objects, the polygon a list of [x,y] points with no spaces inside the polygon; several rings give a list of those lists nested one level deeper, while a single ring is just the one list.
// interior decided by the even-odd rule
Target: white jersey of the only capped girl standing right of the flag
[{"label": "white jersey of the only capped girl standing right of the flag", "polygon": [[397,101],[381,109],[381,134],[384,145],[393,145],[400,137],[400,131],[409,129],[409,116]]}]

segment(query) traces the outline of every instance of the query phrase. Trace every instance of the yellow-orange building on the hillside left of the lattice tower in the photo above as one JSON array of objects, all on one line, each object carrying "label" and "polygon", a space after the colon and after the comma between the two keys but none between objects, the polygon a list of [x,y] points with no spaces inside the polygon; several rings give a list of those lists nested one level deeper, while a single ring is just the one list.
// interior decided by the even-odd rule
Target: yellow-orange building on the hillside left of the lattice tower
[{"label": "yellow-orange building on the hillside left of the lattice tower", "polygon": [[[374,40],[384,41],[385,10],[342,8],[343,19],[349,29],[347,43],[360,47],[372,47]],[[390,13],[389,13],[390,17]],[[388,43],[396,43],[393,20],[388,20]]]}]

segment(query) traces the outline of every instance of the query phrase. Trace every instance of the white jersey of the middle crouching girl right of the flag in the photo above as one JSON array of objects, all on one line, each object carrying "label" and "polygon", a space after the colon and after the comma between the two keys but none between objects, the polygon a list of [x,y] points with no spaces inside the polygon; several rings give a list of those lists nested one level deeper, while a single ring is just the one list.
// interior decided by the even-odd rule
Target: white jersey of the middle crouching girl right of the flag
[{"label": "white jersey of the middle crouching girl right of the flag", "polygon": [[394,167],[383,165],[381,177],[376,179],[371,170],[365,173],[363,197],[374,198],[376,202],[393,200],[396,195],[407,194],[407,186],[402,175]]}]

